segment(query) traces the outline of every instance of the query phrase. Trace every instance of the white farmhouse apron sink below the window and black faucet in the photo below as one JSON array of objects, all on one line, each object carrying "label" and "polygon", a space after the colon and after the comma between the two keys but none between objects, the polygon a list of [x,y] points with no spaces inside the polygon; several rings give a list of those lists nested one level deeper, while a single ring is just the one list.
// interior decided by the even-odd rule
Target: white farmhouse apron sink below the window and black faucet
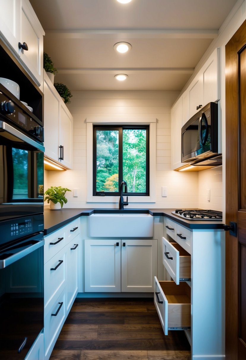
[{"label": "white farmhouse apron sink below the window and black faucet", "polygon": [[153,237],[154,218],[150,214],[92,214],[88,217],[90,237]]}]

